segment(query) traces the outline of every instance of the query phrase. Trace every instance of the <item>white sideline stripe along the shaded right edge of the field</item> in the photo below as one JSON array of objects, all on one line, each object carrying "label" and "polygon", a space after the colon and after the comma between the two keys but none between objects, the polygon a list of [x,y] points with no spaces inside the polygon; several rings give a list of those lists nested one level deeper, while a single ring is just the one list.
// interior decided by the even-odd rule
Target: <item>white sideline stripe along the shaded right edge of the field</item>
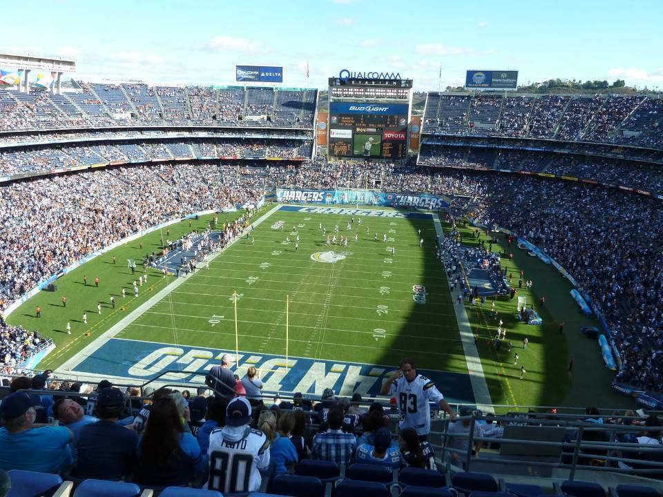
[{"label": "white sideline stripe along the shaded right edge of the field", "polygon": [[[433,223],[435,230],[440,238],[444,238],[444,230],[440,223],[440,218],[437,214],[433,215]],[[468,362],[468,371],[470,371],[470,383],[474,391],[474,400],[477,401],[477,407],[483,412],[494,413],[492,408],[492,400],[490,399],[490,391],[488,390],[488,383],[486,383],[486,376],[483,376],[483,366],[481,365],[481,358],[479,358],[479,351],[477,344],[474,343],[474,334],[470,326],[470,319],[468,318],[468,311],[465,310],[465,305],[459,306],[456,303],[456,298],[460,291],[451,293],[451,302],[456,311],[456,320],[458,322],[458,330],[461,333],[461,343],[463,344],[463,351],[465,351],[465,360]]]}]

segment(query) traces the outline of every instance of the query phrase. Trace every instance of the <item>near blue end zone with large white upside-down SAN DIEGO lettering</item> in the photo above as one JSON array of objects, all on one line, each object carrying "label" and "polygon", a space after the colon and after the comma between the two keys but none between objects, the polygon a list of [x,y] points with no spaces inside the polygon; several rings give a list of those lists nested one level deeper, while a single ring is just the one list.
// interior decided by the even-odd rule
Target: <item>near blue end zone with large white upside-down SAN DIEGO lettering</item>
[{"label": "near blue end zone with large white upside-down SAN DIEGO lettering", "polygon": [[[146,381],[164,371],[193,371],[166,373],[161,380],[203,384],[205,373],[219,364],[226,352],[234,354],[233,351],[207,347],[111,338],[73,367],[72,372]],[[286,364],[282,355],[242,351],[231,369],[241,378],[251,366],[262,372],[260,380],[265,383],[264,391],[300,391],[322,395],[326,388],[331,388],[341,396],[361,393],[365,397],[377,396],[387,374],[396,369],[394,366],[299,357],[290,357]],[[427,369],[417,371],[433,380],[450,402],[474,404],[468,374]]]}]

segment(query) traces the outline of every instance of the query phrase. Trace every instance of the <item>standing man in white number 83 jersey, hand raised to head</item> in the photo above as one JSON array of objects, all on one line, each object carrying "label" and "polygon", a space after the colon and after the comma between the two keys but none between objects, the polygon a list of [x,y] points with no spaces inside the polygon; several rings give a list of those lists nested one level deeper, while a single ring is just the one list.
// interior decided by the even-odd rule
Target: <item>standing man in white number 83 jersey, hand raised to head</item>
[{"label": "standing man in white number 83 jersey, hand raised to head", "polygon": [[412,359],[401,361],[401,368],[382,385],[380,393],[396,398],[401,412],[401,429],[414,428],[421,440],[425,440],[430,431],[429,401],[437,402],[452,421],[455,418],[454,411],[432,380],[416,373]]}]

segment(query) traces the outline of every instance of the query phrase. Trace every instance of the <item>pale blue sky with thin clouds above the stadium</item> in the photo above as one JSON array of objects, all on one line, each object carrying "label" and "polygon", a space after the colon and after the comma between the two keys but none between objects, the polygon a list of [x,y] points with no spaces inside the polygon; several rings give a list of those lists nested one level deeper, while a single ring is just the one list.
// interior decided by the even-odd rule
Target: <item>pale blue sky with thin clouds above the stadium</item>
[{"label": "pale blue sky with thin clouds above the stadium", "polygon": [[663,88],[661,1],[43,0],[2,6],[0,52],[59,55],[77,78],[233,84],[234,64],[284,66],[323,88],[343,68],[400,72],[420,90],[466,69],[519,82],[626,79]]}]

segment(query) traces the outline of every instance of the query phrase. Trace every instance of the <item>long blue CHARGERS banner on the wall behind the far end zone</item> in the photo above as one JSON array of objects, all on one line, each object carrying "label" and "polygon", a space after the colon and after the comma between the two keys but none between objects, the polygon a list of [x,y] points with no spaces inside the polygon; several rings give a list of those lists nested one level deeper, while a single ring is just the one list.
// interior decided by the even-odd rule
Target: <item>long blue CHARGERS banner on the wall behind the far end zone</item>
[{"label": "long blue CHARGERS banner on the wall behind the far end zone", "polygon": [[391,193],[374,190],[297,190],[278,188],[277,202],[311,202],[314,204],[363,204],[384,207],[422,208],[445,211],[449,202],[428,193]]}]

